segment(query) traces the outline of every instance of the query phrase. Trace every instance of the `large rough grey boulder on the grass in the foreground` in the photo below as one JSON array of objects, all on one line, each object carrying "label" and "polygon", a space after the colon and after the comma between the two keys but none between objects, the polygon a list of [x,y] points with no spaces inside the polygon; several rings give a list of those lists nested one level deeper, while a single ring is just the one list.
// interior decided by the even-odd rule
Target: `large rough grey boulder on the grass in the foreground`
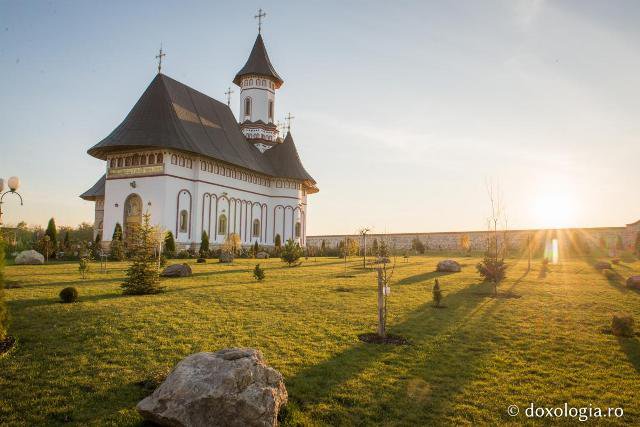
[{"label": "large rough grey boulder on the grass in the foreground", "polygon": [[138,412],[162,426],[275,426],[287,403],[282,375],[252,348],[183,359]]}]

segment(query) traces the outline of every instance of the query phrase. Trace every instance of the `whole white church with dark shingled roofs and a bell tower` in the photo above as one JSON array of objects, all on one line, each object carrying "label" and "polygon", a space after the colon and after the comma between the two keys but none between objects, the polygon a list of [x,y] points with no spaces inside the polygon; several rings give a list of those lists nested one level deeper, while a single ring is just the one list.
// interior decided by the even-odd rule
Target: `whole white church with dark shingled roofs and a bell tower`
[{"label": "whole white church with dark shingled roofs and a bell tower", "polygon": [[[162,51],[159,55],[160,64]],[[80,197],[95,203],[95,235],[104,245],[116,224],[124,238],[148,212],[180,248],[203,232],[212,246],[232,233],[243,245],[306,244],[307,195],[318,192],[290,130],[274,121],[284,83],[261,32],[233,83],[240,88],[236,120],[219,102],[161,73],[106,138],[88,150],[106,173]]]}]

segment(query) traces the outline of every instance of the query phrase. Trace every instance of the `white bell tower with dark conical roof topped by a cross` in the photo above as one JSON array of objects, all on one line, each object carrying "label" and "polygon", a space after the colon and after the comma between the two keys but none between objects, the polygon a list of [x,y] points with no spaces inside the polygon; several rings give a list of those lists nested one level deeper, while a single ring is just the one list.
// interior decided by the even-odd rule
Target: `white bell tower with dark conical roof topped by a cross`
[{"label": "white bell tower with dark conical roof topped by a cross", "polygon": [[[262,10],[256,18],[259,25]],[[278,129],[275,123],[276,90],[284,81],[271,65],[267,49],[262,40],[261,28],[253,44],[249,59],[236,74],[233,83],[240,87],[240,129],[244,136],[261,151],[278,143]]]}]

